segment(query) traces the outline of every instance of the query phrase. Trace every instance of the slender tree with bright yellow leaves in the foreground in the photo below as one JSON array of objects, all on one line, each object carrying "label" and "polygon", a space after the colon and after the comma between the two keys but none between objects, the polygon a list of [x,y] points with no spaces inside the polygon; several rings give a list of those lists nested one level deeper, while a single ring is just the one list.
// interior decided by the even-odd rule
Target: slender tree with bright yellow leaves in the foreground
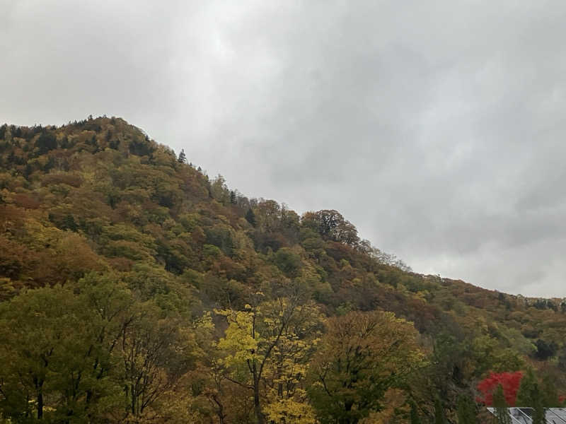
[{"label": "slender tree with bright yellow leaves in the foreground", "polygon": [[314,423],[302,384],[320,334],[318,307],[291,295],[216,312],[228,321],[221,365],[229,381],[250,390],[256,422]]}]

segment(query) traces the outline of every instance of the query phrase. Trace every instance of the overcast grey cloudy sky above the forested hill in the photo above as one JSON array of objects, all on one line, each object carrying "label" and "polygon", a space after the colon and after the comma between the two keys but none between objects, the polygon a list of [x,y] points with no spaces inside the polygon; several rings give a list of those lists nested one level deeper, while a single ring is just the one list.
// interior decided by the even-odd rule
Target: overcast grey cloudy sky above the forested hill
[{"label": "overcast grey cloudy sky above the forested hill", "polygon": [[412,269],[566,295],[566,2],[0,0],[0,122],[120,116]]}]

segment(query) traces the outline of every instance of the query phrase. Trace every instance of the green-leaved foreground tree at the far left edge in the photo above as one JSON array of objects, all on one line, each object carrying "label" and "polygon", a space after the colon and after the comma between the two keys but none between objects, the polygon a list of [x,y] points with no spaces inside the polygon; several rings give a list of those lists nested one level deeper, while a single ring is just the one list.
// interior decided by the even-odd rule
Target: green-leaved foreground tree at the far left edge
[{"label": "green-leaved foreground tree at the far left edge", "polygon": [[0,305],[0,408],[6,417],[41,420],[46,407],[52,408],[53,363],[61,342],[71,336],[64,305],[73,305],[72,300],[73,293],[57,286]]}]

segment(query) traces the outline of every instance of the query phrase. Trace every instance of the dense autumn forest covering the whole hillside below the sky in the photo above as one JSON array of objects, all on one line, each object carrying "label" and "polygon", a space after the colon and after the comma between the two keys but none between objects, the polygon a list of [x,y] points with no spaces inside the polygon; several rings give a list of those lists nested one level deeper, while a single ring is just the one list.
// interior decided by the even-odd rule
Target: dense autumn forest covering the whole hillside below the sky
[{"label": "dense autumn forest covering the whole hillside below the sky", "polygon": [[190,159],[120,118],[0,126],[0,423],[472,424],[562,403],[566,302],[414,273],[339,212]]}]

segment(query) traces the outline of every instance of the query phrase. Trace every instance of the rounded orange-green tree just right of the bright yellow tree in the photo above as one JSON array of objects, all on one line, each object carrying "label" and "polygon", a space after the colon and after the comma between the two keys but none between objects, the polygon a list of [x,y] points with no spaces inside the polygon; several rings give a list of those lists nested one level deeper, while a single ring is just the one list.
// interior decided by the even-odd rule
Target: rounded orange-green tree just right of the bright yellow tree
[{"label": "rounded orange-green tree just right of the bright yellow tree", "polygon": [[417,331],[391,312],[331,317],[311,363],[311,401],[322,423],[354,424],[380,411],[388,388],[424,363]]}]

